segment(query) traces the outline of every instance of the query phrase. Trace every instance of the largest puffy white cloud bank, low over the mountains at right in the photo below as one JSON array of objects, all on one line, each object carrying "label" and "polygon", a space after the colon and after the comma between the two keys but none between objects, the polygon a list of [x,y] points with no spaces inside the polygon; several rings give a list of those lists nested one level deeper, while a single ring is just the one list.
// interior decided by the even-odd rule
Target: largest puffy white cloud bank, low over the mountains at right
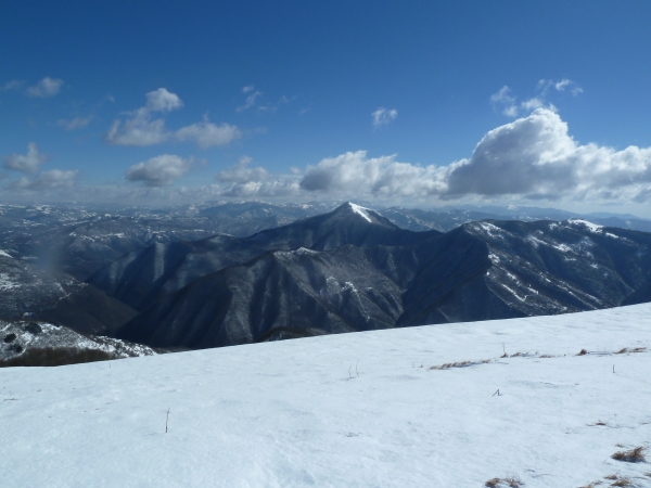
[{"label": "largest puffy white cloud bank, low over the mountains at right", "polygon": [[358,151],[308,168],[301,188],[381,197],[640,201],[650,183],[651,147],[582,145],[556,112],[537,108],[489,131],[470,158],[449,166],[400,163],[395,155],[369,158]]}]

